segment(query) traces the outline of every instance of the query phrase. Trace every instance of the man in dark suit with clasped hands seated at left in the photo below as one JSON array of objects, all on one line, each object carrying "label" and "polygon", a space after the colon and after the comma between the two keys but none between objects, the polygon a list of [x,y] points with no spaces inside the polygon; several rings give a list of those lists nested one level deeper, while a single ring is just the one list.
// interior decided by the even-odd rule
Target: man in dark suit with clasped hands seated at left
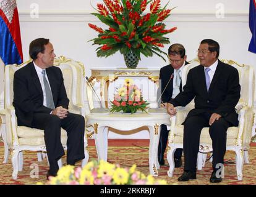
[{"label": "man in dark suit with clasped hands seated at left", "polygon": [[14,107],[19,126],[45,131],[49,176],[56,176],[58,160],[65,154],[61,144],[61,127],[67,132],[67,164],[85,158],[83,116],[69,113],[61,70],[53,66],[53,45],[38,38],[30,43],[33,62],[14,73]]}]

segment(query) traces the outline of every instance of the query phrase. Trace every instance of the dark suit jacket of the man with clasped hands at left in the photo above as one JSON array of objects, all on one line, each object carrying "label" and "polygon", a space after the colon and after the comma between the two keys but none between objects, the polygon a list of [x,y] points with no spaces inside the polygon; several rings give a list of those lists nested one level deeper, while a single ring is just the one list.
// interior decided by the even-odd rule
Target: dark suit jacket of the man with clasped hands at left
[{"label": "dark suit jacket of the man with clasped hands at left", "polygon": [[[56,66],[46,68],[46,73],[53,94],[55,107],[67,108],[67,98],[61,70]],[[33,62],[14,73],[15,114],[19,126],[32,127],[34,113],[51,113],[50,108],[43,106],[43,90]]]}]

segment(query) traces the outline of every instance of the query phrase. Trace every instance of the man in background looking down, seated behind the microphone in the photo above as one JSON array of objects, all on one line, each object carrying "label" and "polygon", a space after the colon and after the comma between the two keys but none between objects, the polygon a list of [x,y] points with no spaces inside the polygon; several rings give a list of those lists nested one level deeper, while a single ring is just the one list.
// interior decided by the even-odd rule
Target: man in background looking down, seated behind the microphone
[{"label": "man in background looking down, seated behind the microphone", "polygon": [[[161,103],[158,103],[160,107],[166,107],[168,101],[171,98],[175,98],[179,92],[182,91],[181,73],[186,62],[187,55],[186,50],[182,44],[173,44],[168,49],[170,64],[164,66],[160,70],[160,89],[158,89],[158,95],[161,96]],[[161,92],[161,93],[160,93]],[[158,161],[162,166],[164,165],[164,151],[168,141],[169,129],[166,125],[161,125],[161,133],[158,145]],[[175,167],[182,166],[182,148],[177,148],[174,153]]]}]

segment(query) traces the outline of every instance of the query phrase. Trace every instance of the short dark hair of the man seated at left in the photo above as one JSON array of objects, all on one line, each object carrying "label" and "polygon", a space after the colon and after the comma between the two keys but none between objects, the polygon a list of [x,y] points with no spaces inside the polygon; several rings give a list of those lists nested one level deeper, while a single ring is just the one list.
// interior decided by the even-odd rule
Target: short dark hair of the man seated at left
[{"label": "short dark hair of the man seated at left", "polygon": [[45,52],[45,45],[49,44],[49,39],[37,38],[29,45],[29,55],[33,60],[36,60],[37,54]]}]

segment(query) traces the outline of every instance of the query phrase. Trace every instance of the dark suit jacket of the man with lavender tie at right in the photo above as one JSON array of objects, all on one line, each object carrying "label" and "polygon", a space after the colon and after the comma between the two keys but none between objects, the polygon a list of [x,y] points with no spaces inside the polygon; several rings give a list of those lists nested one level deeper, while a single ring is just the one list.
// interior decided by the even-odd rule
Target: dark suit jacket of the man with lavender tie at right
[{"label": "dark suit jacket of the man with lavender tie at right", "polygon": [[236,68],[218,60],[208,92],[204,66],[198,65],[187,74],[187,82],[183,92],[180,92],[169,102],[174,107],[186,106],[195,98],[195,108],[189,112],[187,118],[210,111],[211,113],[218,113],[233,126],[237,126],[238,115],[235,107],[240,98],[240,90],[239,74]]}]

